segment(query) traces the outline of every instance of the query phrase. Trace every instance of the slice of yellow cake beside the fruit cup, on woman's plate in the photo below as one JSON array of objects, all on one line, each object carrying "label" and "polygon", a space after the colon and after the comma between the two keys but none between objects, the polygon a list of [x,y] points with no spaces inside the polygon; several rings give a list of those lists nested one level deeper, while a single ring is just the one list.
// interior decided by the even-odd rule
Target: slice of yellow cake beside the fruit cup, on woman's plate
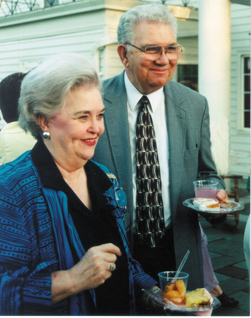
[{"label": "slice of yellow cake beside the fruit cup, on woman's plate", "polygon": [[213,297],[206,288],[198,288],[185,294],[186,307],[205,307],[213,303]]}]

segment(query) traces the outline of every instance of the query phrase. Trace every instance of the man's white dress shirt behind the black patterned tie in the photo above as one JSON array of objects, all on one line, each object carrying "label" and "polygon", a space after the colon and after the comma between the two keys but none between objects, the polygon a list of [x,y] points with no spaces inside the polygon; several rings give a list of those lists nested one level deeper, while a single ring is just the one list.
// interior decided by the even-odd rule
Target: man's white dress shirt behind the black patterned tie
[{"label": "man's white dress shirt behind the black patterned tie", "polygon": [[[127,93],[127,108],[129,119],[129,133],[132,156],[132,176],[133,176],[133,232],[136,232],[136,122],[139,107],[139,100],[143,96],[135,86],[132,85],[125,73],[125,86]],[[162,200],[164,206],[164,220],[167,227],[171,222],[171,208],[169,197],[169,170],[168,170],[168,135],[167,120],[165,111],[165,100],[163,87],[154,93],[147,95],[150,101],[148,106],[149,113],[152,116],[156,144],[159,158],[159,167],[162,183]]]}]

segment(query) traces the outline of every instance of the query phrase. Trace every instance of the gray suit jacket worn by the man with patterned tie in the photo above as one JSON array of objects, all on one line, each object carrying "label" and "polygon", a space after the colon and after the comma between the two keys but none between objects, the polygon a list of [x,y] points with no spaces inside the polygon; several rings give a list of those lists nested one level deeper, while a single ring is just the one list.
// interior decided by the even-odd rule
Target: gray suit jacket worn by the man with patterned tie
[{"label": "gray suit jacket worn by the man with patterned tie", "polygon": [[[105,80],[103,88],[105,132],[100,137],[93,159],[106,165],[117,176],[127,195],[128,211],[132,213],[132,162],[124,72]],[[224,188],[224,182],[217,176],[211,156],[206,98],[171,80],[164,86],[164,95],[176,263],[180,264],[189,249],[190,255],[183,271],[190,274],[187,288],[191,290],[203,287],[201,235],[197,212],[186,208],[182,202],[194,197],[192,182],[197,179],[217,180],[220,188]]]}]

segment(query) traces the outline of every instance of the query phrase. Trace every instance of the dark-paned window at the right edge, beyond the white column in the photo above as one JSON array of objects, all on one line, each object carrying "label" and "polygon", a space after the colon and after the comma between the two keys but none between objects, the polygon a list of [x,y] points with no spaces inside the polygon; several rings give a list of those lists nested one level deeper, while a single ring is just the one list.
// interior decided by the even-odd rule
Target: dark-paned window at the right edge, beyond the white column
[{"label": "dark-paned window at the right edge, beyond the white column", "polygon": [[243,57],[243,111],[244,128],[250,128],[250,57]]}]

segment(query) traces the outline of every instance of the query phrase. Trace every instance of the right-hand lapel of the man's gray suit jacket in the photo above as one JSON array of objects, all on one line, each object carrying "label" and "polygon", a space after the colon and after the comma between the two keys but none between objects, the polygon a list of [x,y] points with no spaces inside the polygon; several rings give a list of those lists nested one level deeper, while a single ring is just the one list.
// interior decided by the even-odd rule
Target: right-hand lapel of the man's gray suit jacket
[{"label": "right-hand lapel of the man's gray suit jacket", "polygon": [[184,99],[170,81],[164,86],[167,130],[169,139],[169,182],[172,215],[177,208],[178,194],[182,181],[185,151],[186,111],[180,104]]}]

